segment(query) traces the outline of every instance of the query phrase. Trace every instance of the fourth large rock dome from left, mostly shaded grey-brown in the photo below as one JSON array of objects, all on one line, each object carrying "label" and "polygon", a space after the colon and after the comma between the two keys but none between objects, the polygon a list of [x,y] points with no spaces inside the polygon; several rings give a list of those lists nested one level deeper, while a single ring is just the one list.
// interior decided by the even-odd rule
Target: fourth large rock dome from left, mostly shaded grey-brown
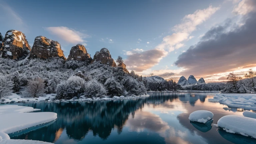
[{"label": "fourth large rock dome from left, mostly shaded grey-brown", "polygon": [[100,52],[96,52],[92,62],[100,61],[102,64],[107,64],[112,67],[116,67],[116,63],[114,59],[112,59],[111,54],[109,53],[108,49],[102,48]]}]

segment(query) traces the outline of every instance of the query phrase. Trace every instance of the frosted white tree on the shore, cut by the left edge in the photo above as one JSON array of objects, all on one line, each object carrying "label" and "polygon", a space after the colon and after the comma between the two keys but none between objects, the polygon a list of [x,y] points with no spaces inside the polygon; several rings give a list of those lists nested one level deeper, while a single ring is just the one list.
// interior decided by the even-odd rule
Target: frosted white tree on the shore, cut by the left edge
[{"label": "frosted white tree on the shore, cut by the left edge", "polygon": [[12,93],[13,81],[6,76],[0,76],[0,98],[9,96]]}]

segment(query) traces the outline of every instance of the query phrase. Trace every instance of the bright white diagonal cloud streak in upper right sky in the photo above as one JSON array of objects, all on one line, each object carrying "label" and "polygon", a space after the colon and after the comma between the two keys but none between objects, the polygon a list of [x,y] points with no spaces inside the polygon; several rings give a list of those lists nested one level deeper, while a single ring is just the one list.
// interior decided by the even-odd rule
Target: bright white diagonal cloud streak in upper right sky
[{"label": "bright white diagonal cloud streak in upper right sky", "polygon": [[157,48],[168,49],[169,52],[180,48],[176,45],[181,45],[181,42],[184,40],[192,39],[194,36],[189,36],[190,33],[195,31],[198,25],[210,18],[218,9],[219,7],[212,7],[210,5],[206,9],[196,10],[193,14],[186,15],[180,24],[173,27],[175,33],[165,36]]}]

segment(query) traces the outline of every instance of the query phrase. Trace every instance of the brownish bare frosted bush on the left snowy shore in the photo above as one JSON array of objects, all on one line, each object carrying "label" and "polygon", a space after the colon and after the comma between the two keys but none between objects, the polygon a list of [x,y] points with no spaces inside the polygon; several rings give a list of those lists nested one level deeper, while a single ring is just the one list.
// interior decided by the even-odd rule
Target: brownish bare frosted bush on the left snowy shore
[{"label": "brownish bare frosted bush on the left snowy shore", "polygon": [[28,82],[23,95],[29,97],[39,97],[44,95],[44,80],[42,78],[36,78]]}]

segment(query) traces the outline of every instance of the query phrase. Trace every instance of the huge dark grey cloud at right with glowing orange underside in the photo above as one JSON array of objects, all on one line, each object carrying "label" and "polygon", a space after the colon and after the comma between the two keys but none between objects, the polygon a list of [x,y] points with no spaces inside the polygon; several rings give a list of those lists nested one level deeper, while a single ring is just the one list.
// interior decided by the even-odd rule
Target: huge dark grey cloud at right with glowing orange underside
[{"label": "huge dark grey cloud at right with glowing orange underside", "polygon": [[228,21],[202,37],[196,45],[179,55],[175,65],[186,70],[184,75],[211,75],[237,70],[256,63],[256,14],[243,17],[244,25]]}]

